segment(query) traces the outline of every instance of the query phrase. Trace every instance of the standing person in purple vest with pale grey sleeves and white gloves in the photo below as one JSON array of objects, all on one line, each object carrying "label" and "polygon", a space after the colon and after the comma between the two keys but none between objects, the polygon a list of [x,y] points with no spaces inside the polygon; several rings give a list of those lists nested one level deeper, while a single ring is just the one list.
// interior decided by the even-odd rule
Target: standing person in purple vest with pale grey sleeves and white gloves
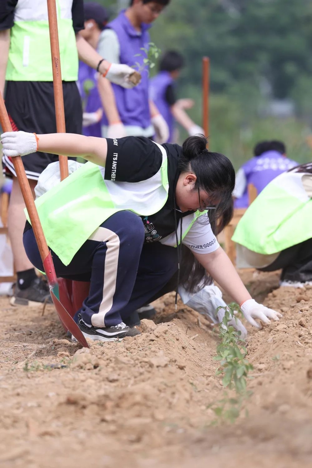
[{"label": "standing person in purple vest with pale grey sleeves and white gloves", "polygon": [[130,6],[119,13],[102,31],[98,51],[115,63],[129,66],[140,64],[142,80],[133,89],[123,89],[105,80],[105,89],[100,89],[104,107],[105,124],[102,137],[121,138],[138,136],[152,138],[156,133],[158,142],[168,139],[168,126],[156,106],[148,97],[148,67],[142,48],[148,49],[148,29],[170,0],[131,0]]}]

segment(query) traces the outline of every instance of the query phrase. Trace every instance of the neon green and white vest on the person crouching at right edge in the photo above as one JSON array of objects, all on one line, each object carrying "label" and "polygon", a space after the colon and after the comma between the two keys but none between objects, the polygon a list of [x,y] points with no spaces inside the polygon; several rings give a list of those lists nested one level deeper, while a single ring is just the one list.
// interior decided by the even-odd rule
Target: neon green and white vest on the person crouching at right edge
[{"label": "neon green and white vest on the person crouching at right edge", "polygon": [[270,182],[240,219],[232,240],[271,255],[312,238],[312,174],[285,172]]}]

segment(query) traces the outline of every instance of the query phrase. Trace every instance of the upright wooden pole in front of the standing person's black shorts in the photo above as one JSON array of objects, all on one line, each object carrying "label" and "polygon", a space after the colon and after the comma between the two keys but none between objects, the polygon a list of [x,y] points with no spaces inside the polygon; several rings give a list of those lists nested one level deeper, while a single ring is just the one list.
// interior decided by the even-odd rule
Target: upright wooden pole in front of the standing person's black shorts
[{"label": "upright wooden pole in front of the standing person's black shorts", "polygon": [[[57,17],[57,12],[56,12],[55,0],[47,0],[47,5],[48,5],[51,59],[52,59],[52,71],[53,71],[53,89],[54,89],[54,104],[55,104],[55,115],[56,115],[56,129],[58,133],[66,133],[61,60],[59,56],[59,43],[58,43],[58,17]],[[60,168],[60,173],[61,173],[61,180],[64,180],[68,176],[67,156],[59,155],[59,168]]]}]

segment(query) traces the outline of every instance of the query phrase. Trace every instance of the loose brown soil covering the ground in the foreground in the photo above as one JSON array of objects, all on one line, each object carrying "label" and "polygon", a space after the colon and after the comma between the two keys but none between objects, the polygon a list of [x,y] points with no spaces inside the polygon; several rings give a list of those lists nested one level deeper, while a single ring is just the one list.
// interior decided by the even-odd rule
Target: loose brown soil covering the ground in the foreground
[{"label": "loose brown soil covering the ground in the foreground", "polygon": [[312,287],[242,278],[283,319],[248,327],[253,395],[233,425],[210,425],[217,336],[181,302],[176,313],[172,294],[142,335],[90,350],[66,339],[53,307],[0,299],[1,468],[312,467]]}]

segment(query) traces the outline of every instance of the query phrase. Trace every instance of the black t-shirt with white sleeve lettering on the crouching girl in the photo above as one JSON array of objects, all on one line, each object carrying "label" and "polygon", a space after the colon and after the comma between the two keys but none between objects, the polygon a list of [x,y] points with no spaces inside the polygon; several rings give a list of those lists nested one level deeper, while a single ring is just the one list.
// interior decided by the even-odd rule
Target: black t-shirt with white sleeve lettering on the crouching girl
[{"label": "black t-shirt with white sleeve lettering on the crouching girl", "polygon": [[[162,164],[160,148],[148,138],[125,137],[117,140],[108,138],[107,146],[104,176],[106,180],[141,182],[154,176],[160,170]],[[145,228],[145,242],[160,241],[176,230],[174,211],[177,222],[182,217],[193,213],[192,211],[181,213],[174,203],[174,191],[180,174],[178,161],[182,148],[170,143],[162,146],[167,152],[168,199],[159,212],[151,216],[141,216]]]}]

